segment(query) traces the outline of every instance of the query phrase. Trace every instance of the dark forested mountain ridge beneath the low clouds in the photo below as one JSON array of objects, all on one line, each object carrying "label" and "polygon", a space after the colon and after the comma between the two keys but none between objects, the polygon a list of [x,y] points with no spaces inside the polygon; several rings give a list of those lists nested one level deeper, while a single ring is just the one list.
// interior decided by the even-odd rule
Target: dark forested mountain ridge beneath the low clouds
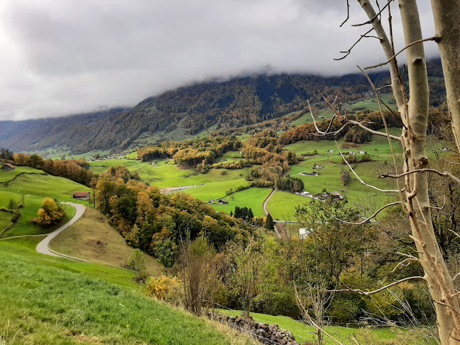
[{"label": "dark forested mountain ridge beneath the low clouds", "polygon": [[[444,97],[440,62],[429,63],[429,70],[432,102],[437,105]],[[373,73],[372,78],[377,86],[389,82],[386,72]],[[339,104],[347,104],[363,99],[369,91],[363,75],[252,75],[200,82],[148,97],[132,109],[1,121],[0,147],[18,151],[65,146],[72,153],[127,148],[155,133],[168,138],[177,128],[185,136],[208,128],[238,128],[300,111],[307,100],[324,106],[323,96],[337,96]]]}]

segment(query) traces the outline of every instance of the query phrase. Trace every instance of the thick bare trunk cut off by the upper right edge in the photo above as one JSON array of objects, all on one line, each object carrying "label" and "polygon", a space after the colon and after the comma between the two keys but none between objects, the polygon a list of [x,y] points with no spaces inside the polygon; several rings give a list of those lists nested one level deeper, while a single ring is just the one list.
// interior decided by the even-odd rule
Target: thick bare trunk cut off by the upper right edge
[{"label": "thick bare trunk cut off by the upper right edge", "polygon": [[460,0],[432,0],[452,130],[460,152]]}]

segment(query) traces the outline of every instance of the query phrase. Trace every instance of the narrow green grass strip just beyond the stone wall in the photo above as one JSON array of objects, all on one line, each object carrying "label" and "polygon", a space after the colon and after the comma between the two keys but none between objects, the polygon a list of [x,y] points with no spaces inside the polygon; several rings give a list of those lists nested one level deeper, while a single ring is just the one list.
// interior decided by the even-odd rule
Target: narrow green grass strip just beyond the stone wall
[{"label": "narrow green grass strip just beyond the stone wall", "polygon": [[[221,314],[226,315],[233,315],[239,316],[241,315],[240,310],[219,310]],[[313,334],[314,328],[311,326],[307,326],[300,321],[296,321],[291,319],[290,317],[285,316],[273,316],[268,314],[258,314],[256,312],[251,312],[251,317],[253,317],[254,321],[256,322],[263,322],[265,324],[278,324],[278,327],[282,329],[288,329],[292,334],[294,334],[296,341],[299,341],[301,344],[304,341],[317,341],[317,336]],[[368,334],[372,334],[375,336],[375,339],[380,341],[390,340],[390,339],[400,339],[401,341],[409,341],[411,332],[403,331],[401,329],[395,329],[390,327],[380,328],[380,329],[358,329],[358,328],[350,328],[350,327],[339,327],[339,326],[329,326],[325,327],[325,330],[331,334],[332,336],[336,337],[339,341],[342,341],[343,344],[346,345],[354,345],[356,344],[351,338],[356,338],[358,341],[362,341],[364,336],[368,336]],[[397,338],[398,337],[398,338]],[[422,339],[420,339],[422,340]],[[316,343],[315,343],[316,344]],[[324,344],[326,345],[333,345],[336,344],[327,336],[324,336]],[[371,345],[373,343],[362,343]],[[382,343],[380,343],[382,344]],[[385,344],[403,344],[401,343],[385,343]],[[424,341],[421,342],[407,342],[405,344],[427,344]],[[428,343],[429,344],[429,343]],[[434,343],[433,343],[434,344]]]}]

